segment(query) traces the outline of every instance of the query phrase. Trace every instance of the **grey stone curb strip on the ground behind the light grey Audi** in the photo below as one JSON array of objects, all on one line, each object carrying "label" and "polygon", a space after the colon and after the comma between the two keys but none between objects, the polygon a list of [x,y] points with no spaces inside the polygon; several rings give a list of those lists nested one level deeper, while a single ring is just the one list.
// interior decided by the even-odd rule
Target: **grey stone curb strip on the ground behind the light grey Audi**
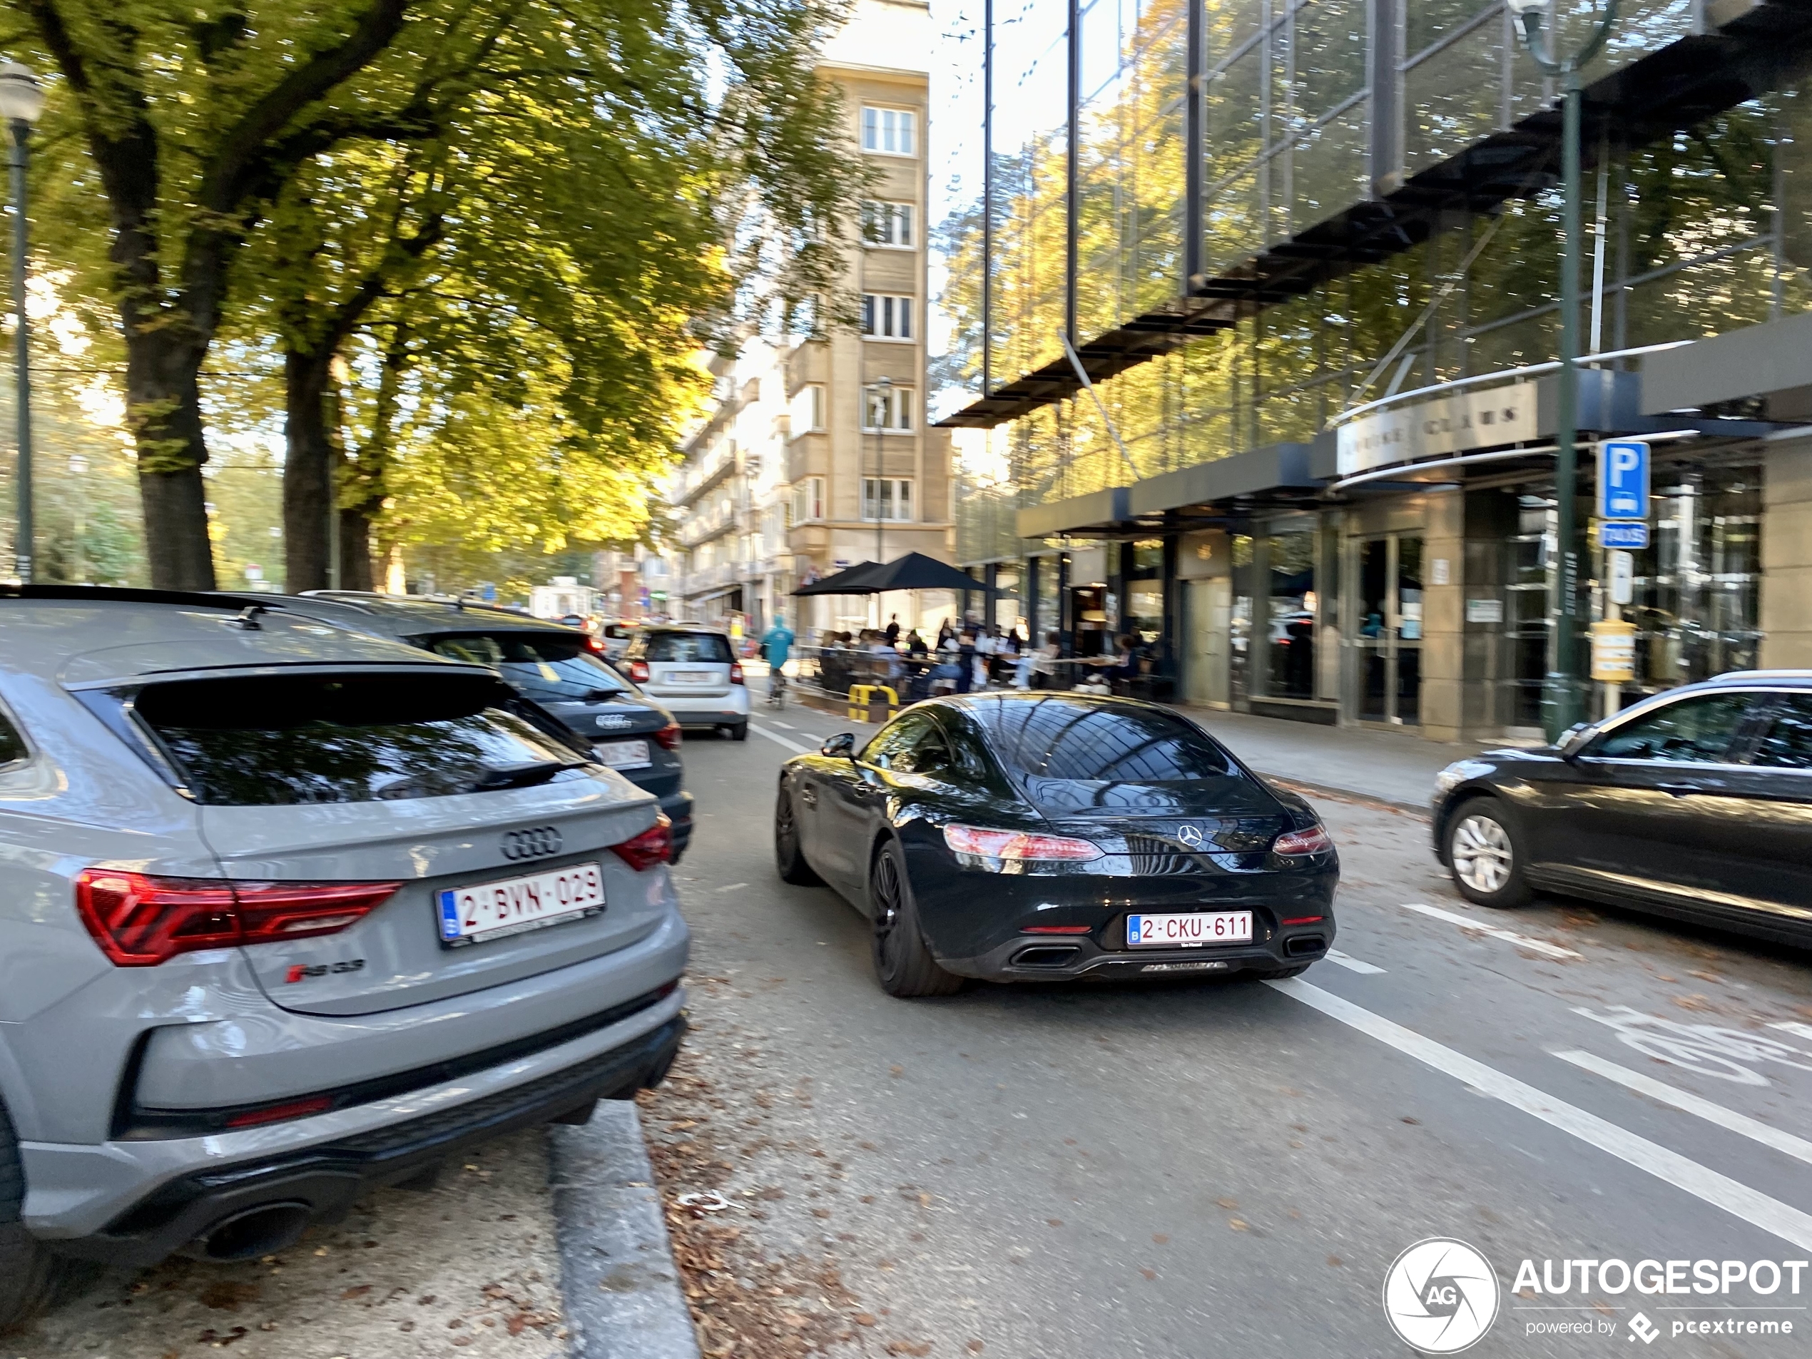
[{"label": "grey stone curb strip on the ground behind the light grey Audi", "polygon": [[699,1359],[632,1100],[547,1129],[573,1359]]}]

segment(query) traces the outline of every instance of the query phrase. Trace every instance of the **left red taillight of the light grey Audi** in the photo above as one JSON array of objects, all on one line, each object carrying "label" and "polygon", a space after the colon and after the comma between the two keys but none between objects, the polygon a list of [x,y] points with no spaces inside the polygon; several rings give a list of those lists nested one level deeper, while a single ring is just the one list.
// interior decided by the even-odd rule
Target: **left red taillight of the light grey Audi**
[{"label": "left red taillight of the light grey Audi", "polygon": [[178,953],[333,935],[400,882],[221,882],[87,868],[76,913],[116,968],[156,968]]}]

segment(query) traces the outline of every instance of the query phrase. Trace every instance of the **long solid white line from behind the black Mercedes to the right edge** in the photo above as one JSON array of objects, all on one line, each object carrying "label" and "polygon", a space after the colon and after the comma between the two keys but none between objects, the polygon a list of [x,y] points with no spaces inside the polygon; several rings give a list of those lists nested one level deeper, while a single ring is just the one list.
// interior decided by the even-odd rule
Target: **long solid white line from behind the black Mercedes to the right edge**
[{"label": "long solid white line from behind the black Mercedes to the right edge", "polygon": [[1464,1053],[1457,1053],[1444,1044],[1437,1044],[1433,1038],[1424,1038],[1415,1033],[1415,1029],[1406,1029],[1383,1015],[1373,1015],[1370,1009],[1355,1006],[1352,1000],[1343,1000],[1332,991],[1310,986],[1301,977],[1268,980],[1265,986],[1281,991],[1292,1000],[1301,1000],[1305,1006],[1319,1009],[1328,1018],[1335,1018],[1352,1029],[1359,1029],[1359,1033],[1377,1038],[1379,1042],[1395,1047],[1406,1056],[1413,1056],[1417,1062],[1422,1062],[1435,1071],[1453,1076],[1455,1080],[1462,1080],[1495,1100],[1502,1100],[1515,1109],[1522,1109],[1526,1114],[1540,1118],[1549,1127],[1569,1132],[1580,1142],[1598,1147],[1598,1151],[1605,1151],[1620,1161],[1634,1165],[1638,1171],[1647,1171],[1654,1178],[1674,1185],[1674,1189],[1683,1189],[1687,1194],[1692,1194],[1716,1209],[1723,1209],[1734,1218],[1741,1218],[1765,1232],[1772,1232],[1783,1241],[1794,1243],[1801,1250],[1812,1250],[1812,1214],[1801,1212],[1788,1203],[1781,1203],[1779,1200],[1769,1198],[1749,1185],[1718,1174],[1716,1171],[1711,1171],[1680,1152],[1636,1136],[1629,1129],[1618,1127],[1605,1118],[1598,1118],[1598,1114],[1589,1114],[1584,1109],[1566,1104],[1564,1100],[1557,1100],[1555,1096],[1546,1094],[1515,1076],[1506,1076],[1502,1071],[1488,1067],[1484,1062],[1470,1058]]}]

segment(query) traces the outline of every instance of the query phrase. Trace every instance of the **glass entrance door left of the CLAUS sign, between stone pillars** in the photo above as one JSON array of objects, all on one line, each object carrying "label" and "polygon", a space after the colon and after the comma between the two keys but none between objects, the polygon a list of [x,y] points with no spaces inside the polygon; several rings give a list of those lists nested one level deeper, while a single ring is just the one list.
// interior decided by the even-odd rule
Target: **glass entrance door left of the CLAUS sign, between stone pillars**
[{"label": "glass entrance door left of the CLAUS sign, between stone pillars", "polygon": [[1354,716],[1419,727],[1422,721],[1422,538],[1361,538],[1354,562]]}]

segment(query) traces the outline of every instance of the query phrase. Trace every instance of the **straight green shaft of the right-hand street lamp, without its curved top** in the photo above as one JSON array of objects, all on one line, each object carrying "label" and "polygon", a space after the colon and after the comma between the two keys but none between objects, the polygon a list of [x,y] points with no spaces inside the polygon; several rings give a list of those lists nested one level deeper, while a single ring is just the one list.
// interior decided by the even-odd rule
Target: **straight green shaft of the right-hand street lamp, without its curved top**
[{"label": "straight green shaft of the right-hand street lamp, without its curved top", "polygon": [[1567,62],[1562,71],[1560,130],[1560,393],[1555,402],[1555,540],[1558,580],[1553,663],[1542,692],[1547,739],[1586,718],[1580,690],[1578,636],[1578,310],[1580,310],[1580,78]]}]

